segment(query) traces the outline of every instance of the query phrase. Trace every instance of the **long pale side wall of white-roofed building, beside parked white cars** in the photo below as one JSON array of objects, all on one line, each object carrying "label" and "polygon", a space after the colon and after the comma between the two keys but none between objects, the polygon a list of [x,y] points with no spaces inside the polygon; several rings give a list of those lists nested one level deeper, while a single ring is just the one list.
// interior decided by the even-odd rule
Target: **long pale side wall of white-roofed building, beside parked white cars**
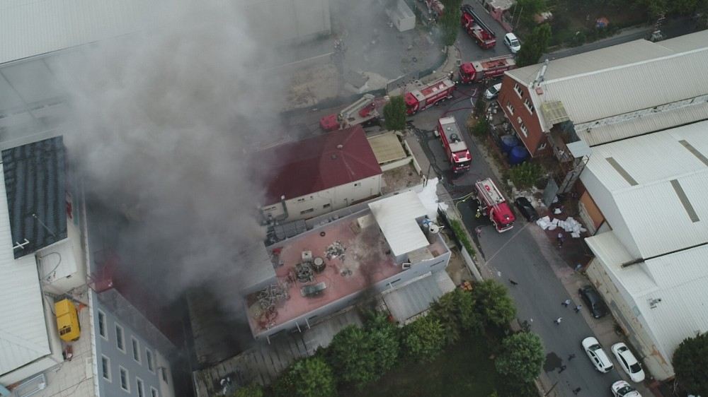
[{"label": "long pale side wall of white-roofed building, beside parked white cars", "polygon": [[622,283],[619,283],[613,273],[607,270],[605,263],[597,258],[590,262],[586,273],[600,295],[603,296],[607,307],[610,307],[617,323],[622,326],[629,343],[639,354],[637,358],[644,363],[645,369],[658,380],[673,377],[671,357],[663,357],[659,352],[658,343],[652,336],[651,328],[646,323],[644,316],[641,316],[632,297],[622,287]]}]

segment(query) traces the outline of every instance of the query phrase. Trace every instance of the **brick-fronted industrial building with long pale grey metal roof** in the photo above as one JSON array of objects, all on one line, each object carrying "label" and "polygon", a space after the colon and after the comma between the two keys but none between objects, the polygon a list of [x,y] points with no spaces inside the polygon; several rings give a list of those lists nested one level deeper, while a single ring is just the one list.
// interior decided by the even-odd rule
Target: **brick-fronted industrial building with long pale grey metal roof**
[{"label": "brick-fronted industrial building with long pale grey metal roof", "polygon": [[593,147],[708,114],[708,31],[635,40],[507,71],[498,102],[532,157]]}]

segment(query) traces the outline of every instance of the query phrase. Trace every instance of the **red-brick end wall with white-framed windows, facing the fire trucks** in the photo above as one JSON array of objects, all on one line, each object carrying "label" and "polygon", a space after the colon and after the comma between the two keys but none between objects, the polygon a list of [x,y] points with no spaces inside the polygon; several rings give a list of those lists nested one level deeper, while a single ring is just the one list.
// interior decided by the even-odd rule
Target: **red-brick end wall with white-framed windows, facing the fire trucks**
[{"label": "red-brick end wall with white-framed windows, facing the fire trucks", "polygon": [[[498,97],[501,109],[531,157],[549,155],[553,150],[537,117],[539,109],[535,109],[532,105],[533,112],[531,112],[525,105],[525,100],[530,100],[528,88],[505,74]],[[521,128],[522,125],[526,127],[526,132]]]}]

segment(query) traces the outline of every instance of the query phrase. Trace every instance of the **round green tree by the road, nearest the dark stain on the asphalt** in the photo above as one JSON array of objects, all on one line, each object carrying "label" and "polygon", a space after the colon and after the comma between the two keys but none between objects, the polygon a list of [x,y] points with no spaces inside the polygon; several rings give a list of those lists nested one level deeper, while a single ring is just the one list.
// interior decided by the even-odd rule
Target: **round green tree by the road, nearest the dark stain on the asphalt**
[{"label": "round green tree by the road, nearest the dark stain on the asphalt", "polygon": [[520,332],[502,341],[494,367],[517,383],[528,383],[541,373],[544,358],[541,338],[532,332]]}]

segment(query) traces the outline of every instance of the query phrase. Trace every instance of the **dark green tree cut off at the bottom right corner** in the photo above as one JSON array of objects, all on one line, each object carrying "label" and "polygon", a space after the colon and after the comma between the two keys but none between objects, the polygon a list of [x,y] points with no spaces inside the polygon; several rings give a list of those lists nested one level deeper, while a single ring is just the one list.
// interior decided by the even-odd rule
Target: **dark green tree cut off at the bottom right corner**
[{"label": "dark green tree cut off at the bottom right corner", "polygon": [[671,364],[685,391],[708,396],[708,333],[684,339],[673,352]]}]

